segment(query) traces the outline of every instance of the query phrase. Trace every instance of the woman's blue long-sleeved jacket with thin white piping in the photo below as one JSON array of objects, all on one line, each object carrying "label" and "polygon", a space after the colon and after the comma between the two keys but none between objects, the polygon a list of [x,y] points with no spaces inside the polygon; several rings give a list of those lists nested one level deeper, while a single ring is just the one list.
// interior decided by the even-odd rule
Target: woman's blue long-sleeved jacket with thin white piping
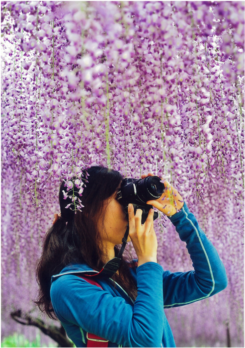
[{"label": "woman's blue long-sleeved jacket with thin white piping", "polygon": [[86,264],[70,264],[52,276],[54,311],[76,347],[86,347],[87,332],[109,340],[108,347],[175,347],[164,308],[225,289],[224,265],[186,203],[169,219],[186,242],[194,270],[172,273],[156,262],[137,267],[134,260],[130,271],[138,288],[135,302],[120,285],[114,288],[112,279],[97,280],[102,290],[76,276],[92,271]]}]

